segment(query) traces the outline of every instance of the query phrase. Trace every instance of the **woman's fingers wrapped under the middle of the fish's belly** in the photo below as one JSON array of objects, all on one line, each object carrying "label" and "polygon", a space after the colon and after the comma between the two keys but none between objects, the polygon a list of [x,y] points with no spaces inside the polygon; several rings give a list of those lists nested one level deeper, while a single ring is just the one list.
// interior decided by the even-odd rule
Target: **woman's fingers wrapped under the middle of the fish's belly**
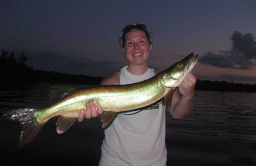
[{"label": "woman's fingers wrapped under the middle of the fish's belly", "polygon": [[103,114],[103,110],[100,106],[100,103],[96,102],[90,102],[90,104],[86,104],[86,109],[81,109],[80,113],[77,117],[77,120],[79,122],[82,122],[84,120],[84,117],[86,119],[90,119],[92,117],[98,117]]}]

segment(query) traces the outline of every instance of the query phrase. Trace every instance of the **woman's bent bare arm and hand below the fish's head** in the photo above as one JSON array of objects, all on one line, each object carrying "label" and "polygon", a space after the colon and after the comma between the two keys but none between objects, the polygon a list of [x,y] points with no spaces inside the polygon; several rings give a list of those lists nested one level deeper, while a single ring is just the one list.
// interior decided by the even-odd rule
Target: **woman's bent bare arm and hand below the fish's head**
[{"label": "woman's bent bare arm and hand below the fish's head", "polygon": [[178,89],[173,91],[169,112],[175,119],[183,119],[190,113],[194,102],[195,85],[196,78],[189,73]]}]

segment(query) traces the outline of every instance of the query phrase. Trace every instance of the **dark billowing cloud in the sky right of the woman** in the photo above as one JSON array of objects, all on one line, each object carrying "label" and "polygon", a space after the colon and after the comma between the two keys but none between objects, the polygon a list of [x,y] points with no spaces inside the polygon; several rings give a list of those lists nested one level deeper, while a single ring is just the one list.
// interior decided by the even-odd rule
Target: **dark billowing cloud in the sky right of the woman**
[{"label": "dark billowing cloud in the sky right of the woman", "polygon": [[202,64],[221,68],[252,69],[256,60],[256,41],[252,34],[241,34],[235,31],[232,36],[232,47],[229,51],[214,53],[208,51],[198,59]]}]

